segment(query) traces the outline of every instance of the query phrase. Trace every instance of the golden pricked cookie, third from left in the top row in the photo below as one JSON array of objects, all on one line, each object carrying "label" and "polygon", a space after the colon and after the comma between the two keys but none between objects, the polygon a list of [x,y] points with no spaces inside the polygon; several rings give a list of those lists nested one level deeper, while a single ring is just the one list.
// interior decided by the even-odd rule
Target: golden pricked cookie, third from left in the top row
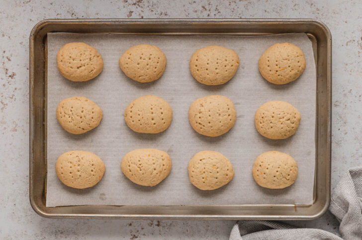
[{"label": "golden pricked cookie, third from left in the top row", "polygon": [[231,49],[221,46],[207,46],[196,50],[190,59],[192,76],[206,85],[220,85],[235,75],[239,57]]}]

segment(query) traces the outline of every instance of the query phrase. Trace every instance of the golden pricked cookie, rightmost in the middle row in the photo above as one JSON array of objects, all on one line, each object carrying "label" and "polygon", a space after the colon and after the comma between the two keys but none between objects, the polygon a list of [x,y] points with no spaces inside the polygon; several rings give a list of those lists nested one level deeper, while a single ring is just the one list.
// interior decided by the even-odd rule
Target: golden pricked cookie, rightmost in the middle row
[{"label": "golden pricked cookie, rightmost in the middle row", "polygon": [[284,101],[270,101],[255,113],[255,127],[270,139],[285,139],[293,135],[299,126],[300,113]]}]

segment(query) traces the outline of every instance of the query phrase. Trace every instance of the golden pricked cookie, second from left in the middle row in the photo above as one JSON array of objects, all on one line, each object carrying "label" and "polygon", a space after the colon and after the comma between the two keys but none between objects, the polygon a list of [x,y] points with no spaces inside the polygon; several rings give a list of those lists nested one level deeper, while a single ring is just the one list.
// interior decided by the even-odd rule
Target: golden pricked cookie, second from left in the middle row
[{"label": "golden pricked cookie, second from left in the middle row", "polygon": [[133,100],[124,111],[129,128],[141,133],[159,133],[171,124],[172,109],[160,97],[146,95]]}]

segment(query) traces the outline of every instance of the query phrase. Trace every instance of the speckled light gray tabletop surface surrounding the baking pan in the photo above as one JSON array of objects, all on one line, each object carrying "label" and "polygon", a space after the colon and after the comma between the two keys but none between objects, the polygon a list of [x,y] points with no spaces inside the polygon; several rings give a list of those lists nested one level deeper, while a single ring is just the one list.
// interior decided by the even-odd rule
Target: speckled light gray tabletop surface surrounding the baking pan
[{"label": "speckled light gray tabletop surface surrounding the baking pan", "polygon": [[[333,38],[332,187],[362,160],[360,0],[177,1],[0,0],[0,238],[227,239],[234,221],[52,220],[28,196],[28,37],[46,18],[315,18]],[[176,2],[176,1],[175,1]],[[337,231],[327,213],[301,227]],[[336,229],[337,228],[337,229]]]}]

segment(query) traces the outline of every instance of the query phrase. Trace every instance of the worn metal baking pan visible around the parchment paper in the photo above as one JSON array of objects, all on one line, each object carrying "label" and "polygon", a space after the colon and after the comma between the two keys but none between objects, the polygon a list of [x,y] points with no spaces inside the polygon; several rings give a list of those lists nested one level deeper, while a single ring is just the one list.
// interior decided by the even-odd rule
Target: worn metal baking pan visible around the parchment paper
[{"label": "worn metal baking pan visible around the parchment paper", "polygon": [[[311,205],[207,205],[46,207],[47,33],[143,35],[269,35],[306,33],[316,61],[316,168]],[[332,39],[327,26],[313,19],[49,19],[30,34],[30,204],[49,218],[118,219],[273,219],[311,220],[330,202]]]}]

